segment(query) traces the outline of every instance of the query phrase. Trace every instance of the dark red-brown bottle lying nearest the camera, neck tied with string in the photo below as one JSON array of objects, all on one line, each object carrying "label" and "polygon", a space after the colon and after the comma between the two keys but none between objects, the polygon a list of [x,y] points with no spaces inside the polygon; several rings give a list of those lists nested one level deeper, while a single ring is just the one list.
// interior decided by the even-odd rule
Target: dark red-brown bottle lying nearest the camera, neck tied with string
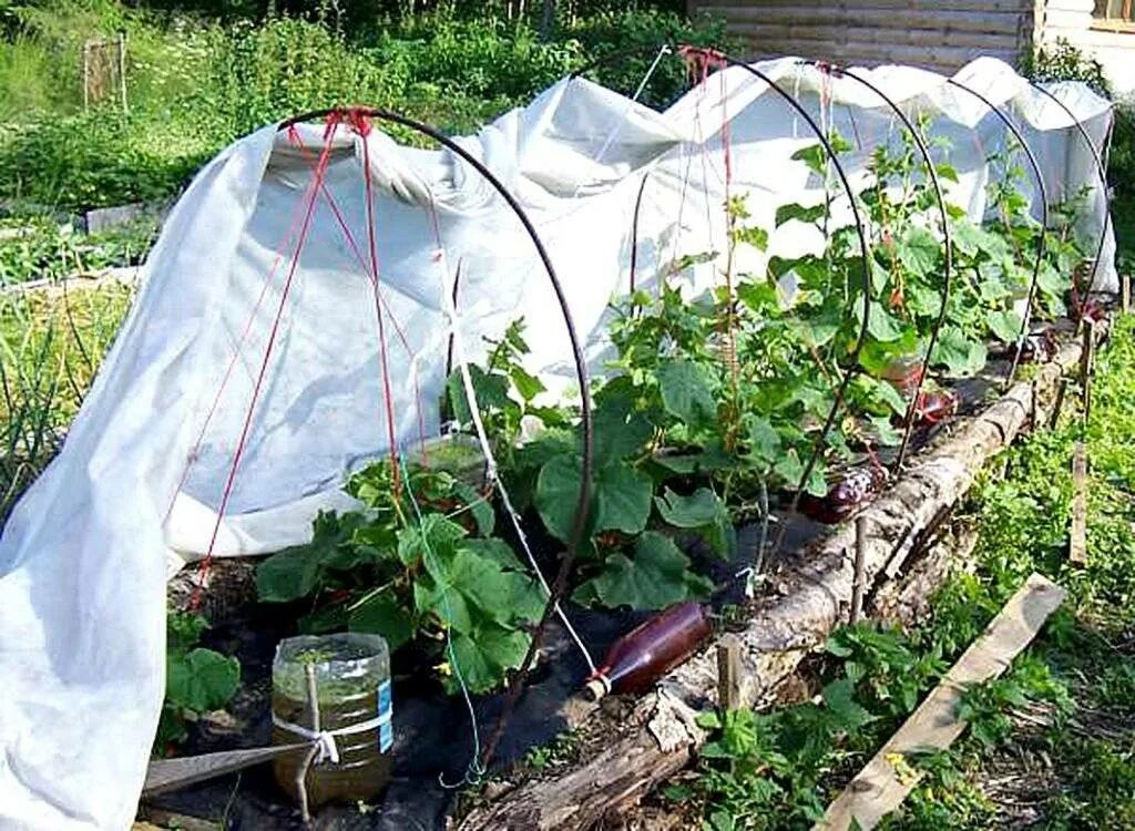
[{"label": "dark red-brown bottle lying nearest the camera, neck tied with string", "polygon": [[603,665],[588,679],[588,695],[599,699],[608,693],[646,690],[689,656],[709,631],[709,620],[700,603],[690,601],[671,606],[612,645]]}]

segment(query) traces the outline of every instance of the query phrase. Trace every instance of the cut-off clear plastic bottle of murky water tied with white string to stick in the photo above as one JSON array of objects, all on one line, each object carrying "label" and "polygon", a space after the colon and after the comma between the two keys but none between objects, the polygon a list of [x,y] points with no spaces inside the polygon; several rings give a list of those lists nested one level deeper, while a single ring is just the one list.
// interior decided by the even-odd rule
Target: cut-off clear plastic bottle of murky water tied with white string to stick
[{"label": "cut-off clear plastic bottle of murky water tied with white string to stick", "polygon": [[[305,779],[311,807],[329,801],[355,803],[381,794],[394,765],[390,722],[390,657],[378,635],[350,632],[288,638],[272,662],[272,744],[304,741],[281,724],[310,730],[308,670],[314,670],[320,729],[335,732],[375,721],[372,728],[335,736],[339,762],[312,764]],[[277,758],[276,781],[296,796],[296,777],[308,749]]]}]

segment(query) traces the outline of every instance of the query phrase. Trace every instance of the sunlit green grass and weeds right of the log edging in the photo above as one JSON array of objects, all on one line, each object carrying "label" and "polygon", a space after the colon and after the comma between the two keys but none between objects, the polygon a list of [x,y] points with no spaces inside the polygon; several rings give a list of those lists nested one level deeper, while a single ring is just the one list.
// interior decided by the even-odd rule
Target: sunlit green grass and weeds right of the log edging
[{"label": "sunlit green grass and weeds right of the log edging", "polygon": [[[671,788],[714,831],[807,826],[913,712],[1032,571],[1069,599],[1001,679],[967,691],[969,731],[925,773],[888,829],[1135,826],[1135,318],[1100,355],[1092,421],[1077,410],[1007,452],[1008,475],[975,489],[974,568],[909,631],[833,635],[819,703],[729,714],[697,777]],[[1067,563],[1069,460],[1091,461],[1088,563]],[[997,467],[997,465],[994,465]]]}]

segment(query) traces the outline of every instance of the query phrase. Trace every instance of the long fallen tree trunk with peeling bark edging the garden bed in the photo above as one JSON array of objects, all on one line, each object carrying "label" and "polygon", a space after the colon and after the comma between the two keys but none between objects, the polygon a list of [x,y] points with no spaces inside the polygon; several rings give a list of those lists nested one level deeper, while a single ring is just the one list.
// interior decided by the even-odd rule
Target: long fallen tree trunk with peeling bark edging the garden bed
[{"label": "long fallen tree trunk with peeling bark edging the garden bed", "polygon": [[[1014,385],[978,416],[959,420],[863,511],[871,528],[864,562],[868,585],[926,542],[978,471],[1031,417],[1043,423],[1039,416],[1044,402],[1054,396],[1065,370],[1081,360],[1081,351],[1078,342],[1066,345],[1037,367],[1032,381]],[[777,683],[846,620],[854,551],[854,523],[844,523],[777,574],[775,596],[759,599],[748,627],[733,633],[741,644],[742,706],[767,703]],[[461,831],[587,829],[680,771],[706,740],[695,716],[716,704],[716,646],[715,640],[669,673],[620,724],[602,725],[611,733],[602,753],[566,775],[520,784],[476,807],[461,822]]]}]

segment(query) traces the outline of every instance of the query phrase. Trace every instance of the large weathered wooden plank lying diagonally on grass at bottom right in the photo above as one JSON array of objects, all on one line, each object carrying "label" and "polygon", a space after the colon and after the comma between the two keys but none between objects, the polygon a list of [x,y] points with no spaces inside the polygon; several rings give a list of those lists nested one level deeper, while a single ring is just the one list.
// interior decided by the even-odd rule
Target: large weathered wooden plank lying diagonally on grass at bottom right
[{"label": "large weathered wooden plank lying diagonally on grass at bottom right", "polygon": [[[985,632],[966,649],[918,710],[851,780],[814,828],[844,831],[857,822],[858,828],[866,831],[894,811],[922,778],[902,764],[906,757],[923,749],[945,749],[961,736],[966,723],[958,720],[957,711],[965,688],[1000,675],[1032,643],[1066,594],[1041,574],[1029,576]],[[896,765],[901,766],[901,773]]]}]

